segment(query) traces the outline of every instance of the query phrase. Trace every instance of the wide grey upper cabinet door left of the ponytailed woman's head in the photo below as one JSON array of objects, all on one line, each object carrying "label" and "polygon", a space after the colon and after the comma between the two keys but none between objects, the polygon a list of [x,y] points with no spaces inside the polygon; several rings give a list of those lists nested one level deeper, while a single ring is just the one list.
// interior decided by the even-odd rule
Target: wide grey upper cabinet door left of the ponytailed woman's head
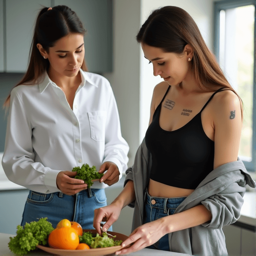
[{"label": "wide grey upper cabinet door left of the ponytailed woman's head", "polygon": [[6,1],[6,72],[26,71],[35,20],[39,9],[50,3],[50,0]]}]

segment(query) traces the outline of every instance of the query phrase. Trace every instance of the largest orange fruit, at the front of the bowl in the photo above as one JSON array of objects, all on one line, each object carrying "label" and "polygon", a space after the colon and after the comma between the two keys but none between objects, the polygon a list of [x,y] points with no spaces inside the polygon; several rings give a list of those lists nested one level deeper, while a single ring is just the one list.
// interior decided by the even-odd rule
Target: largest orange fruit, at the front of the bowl
[{"label": "largest orange fruit, at the front of the bowl", "polygon": [[52,230],[48,237],[51,248],[76,250],[79,245],[78,233],[72,227],[61,227]]}]

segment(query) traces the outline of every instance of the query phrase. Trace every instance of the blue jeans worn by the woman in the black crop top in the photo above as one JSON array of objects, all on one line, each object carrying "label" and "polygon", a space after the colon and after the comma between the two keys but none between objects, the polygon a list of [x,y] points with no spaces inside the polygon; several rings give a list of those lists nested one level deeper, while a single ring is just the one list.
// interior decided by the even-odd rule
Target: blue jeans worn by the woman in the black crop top
[{"label": "blue jeans worn by the woman in the black crop top", "polygon": [[[146,189],[143,224],[174,214],[175,209],[185,198],[186,197],[151,197]],[[146,248],[170,251],[168,234]]]}]

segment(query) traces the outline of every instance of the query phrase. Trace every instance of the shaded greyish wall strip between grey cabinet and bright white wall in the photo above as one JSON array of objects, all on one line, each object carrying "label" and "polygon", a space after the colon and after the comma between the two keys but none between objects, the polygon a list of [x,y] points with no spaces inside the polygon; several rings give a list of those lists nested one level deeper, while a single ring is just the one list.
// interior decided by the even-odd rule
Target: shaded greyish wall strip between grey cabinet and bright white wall
[{"label": "shaded greyish wall strip between grey cabinet and bright white wall", "polygon": [[122,136],[128,142],[128,166],[139,147],[140,46],[136,42],[140,26],[140,0],[113,0],[113,67],[103,75],[110,81],[119,110]]}]

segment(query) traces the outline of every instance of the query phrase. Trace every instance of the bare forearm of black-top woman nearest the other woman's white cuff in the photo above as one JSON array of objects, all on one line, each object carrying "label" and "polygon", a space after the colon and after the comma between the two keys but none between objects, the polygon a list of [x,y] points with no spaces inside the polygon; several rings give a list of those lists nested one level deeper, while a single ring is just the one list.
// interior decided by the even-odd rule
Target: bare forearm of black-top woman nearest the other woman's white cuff
[{"label": "bare forearm of black-top woman nearest the other woman's white cuff", "polygon": [[122,209],[123,209],[125,206],[132,203],[135,199],[136,199],[136,196],[134,191],[134,183],[132,180],[129,180],[127,181],[122,192],[111,204],[117,204],[119,206],[122,206]]}]

